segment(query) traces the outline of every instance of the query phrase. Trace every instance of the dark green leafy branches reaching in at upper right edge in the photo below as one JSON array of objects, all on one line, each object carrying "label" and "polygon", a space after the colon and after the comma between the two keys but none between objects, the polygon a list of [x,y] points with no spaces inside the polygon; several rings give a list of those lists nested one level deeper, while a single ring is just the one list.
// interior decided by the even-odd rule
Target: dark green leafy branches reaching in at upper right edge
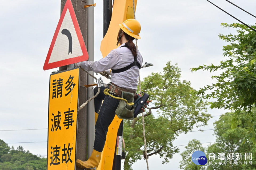
[{"label": "dark green leafy branches reaching in at upper right edge", "polygon": [[[212,85],[207,85],[198,91],[204,99],[214,99],[210,102],[211,108],[225,108],[235,111],[238,115],[241,110],[251,114],[251,109],[256,101],[256,33],[243,24],[226,24],[223,27],[237,29],[236,34],[223,35],[219,38],[229,44],[223,46],[224,59],[218,65],[202,65],[191,68],[192,71],[207,70],[210,72],[222,71],[221,74],[212,76],[216,80]],[[256,29],[256,26],[251,26]],[[232,126],[238,121],[234,117]],[[255,122],[254,117],[251,117]],[[248,137],[255,140],[256,124],[248,130]]]}]

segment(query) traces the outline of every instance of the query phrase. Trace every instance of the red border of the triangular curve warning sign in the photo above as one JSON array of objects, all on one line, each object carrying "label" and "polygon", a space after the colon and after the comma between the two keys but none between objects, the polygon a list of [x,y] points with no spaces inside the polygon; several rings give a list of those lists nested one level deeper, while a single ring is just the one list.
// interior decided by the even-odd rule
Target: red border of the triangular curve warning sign
[{"label": "red border of the triangular curve warning sign", "polygon": [[[59,30],[61,28],[61,24],[63,22],[63,19],[64,19],[64,16],[65,16],[66,12],[67,12],[67,9],[69,9],[70,16],[71,16],[71,19],[72,19],[74,27],[75,27],[75,32],[77,33],[78,41],[80,43],[83,55],[77,56],[77,57],[74,57],[74,58],[69,58],[69,59],[57,61],[57,62],[53,62],[53,63],[48,63],[49,60],[50,60],[50,56],[51,56],[51,53],[53,51],[53,47],[55,45]],[[71,0],[67,0],[65,6],[63,8],[63,11],[61,13],[61,17],[59,19],[59,22],[58,22],[57,28],[55,30],[55,33],[53,35],[53,40],[51,41],[51,45],[50,45],[48,54],[47,54],[46,59],[45,59],[45,64],[43,66],[43,70],[48,70],[48,69],[52,69],[52,68],[56,68],[56,67],[66,66],[66,65],[69,65],[69,64],[73,64],[73,63],[78,63],[78,62],[81,62],[81,61],[88,60],[88,58],[89,58],[89,55],[88,55],[88,52],[87,52],[87,49],[86,49],[86,46],[85,46],[85,42],[83,41],[83,36],[82,36],[81,30],[80,30],[80,27],[79,27],[79,24],[78,24],[78,21],[77,21],[77,17],[75,15],[75,11],[74,11],[72,2],[71,2]]]}]

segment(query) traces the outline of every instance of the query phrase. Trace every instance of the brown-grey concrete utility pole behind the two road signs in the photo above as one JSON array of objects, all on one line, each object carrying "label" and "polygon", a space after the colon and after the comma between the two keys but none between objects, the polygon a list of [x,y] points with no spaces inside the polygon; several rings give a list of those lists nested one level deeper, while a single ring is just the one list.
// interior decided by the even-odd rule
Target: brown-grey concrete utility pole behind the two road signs
[{"label": "brown-grey concrete utility pole behind the two road signs", "polygon": [[[81,29],[81,33],[83,36],[83,40],[85,45],[87,46],[87,9],[84,8],[87,5],[87,0],[71,0],[75,14],[77,16],[77,20],[79,23],[79,27]],[[61,12],[65,6],[66,0],[61,0]],[[74,64],[69,66],[59,67],[59,71],[63,71],[66,69],[74,68]],[[87,100],[87,89],[83,87],[83,85],[87,84],[87,75],[81,70],[80,72],[80,87],[79,87],[79,106],[85,103]],[[76,151],[76,159],[87,160],[87,107],[84,107],[78,113],[78,125],[77,125],[77,151]],[[74,160],[76,161],[76,160]],[[76,168],[77,170],[81,170],[81,168]]]}]

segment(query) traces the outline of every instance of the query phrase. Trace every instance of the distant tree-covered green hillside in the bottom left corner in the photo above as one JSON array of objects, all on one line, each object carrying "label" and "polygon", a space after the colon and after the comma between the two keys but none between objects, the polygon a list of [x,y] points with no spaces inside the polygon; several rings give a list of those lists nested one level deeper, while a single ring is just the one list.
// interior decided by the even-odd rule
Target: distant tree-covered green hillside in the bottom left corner
[{"label": "distant tree-covered green hillside in the bottom left corner", "polygon": [[22,146],[17,149],[0,140],[1,170],[46,170],[46,158],[25,151]]}]

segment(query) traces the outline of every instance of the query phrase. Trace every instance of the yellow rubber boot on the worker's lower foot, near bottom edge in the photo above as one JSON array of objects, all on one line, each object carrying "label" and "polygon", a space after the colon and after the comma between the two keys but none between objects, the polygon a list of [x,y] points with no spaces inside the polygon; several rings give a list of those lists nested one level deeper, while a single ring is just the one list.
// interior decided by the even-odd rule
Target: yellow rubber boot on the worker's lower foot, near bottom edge
[{"label": "yellow rubber boot on the worker's lower foot, near bottom edge", "polygon": [[99,161],[101,160],[101,152],[93,150],[90,158],[87,161],[77,159],[77,166],[80,168],[98,168]]}]

